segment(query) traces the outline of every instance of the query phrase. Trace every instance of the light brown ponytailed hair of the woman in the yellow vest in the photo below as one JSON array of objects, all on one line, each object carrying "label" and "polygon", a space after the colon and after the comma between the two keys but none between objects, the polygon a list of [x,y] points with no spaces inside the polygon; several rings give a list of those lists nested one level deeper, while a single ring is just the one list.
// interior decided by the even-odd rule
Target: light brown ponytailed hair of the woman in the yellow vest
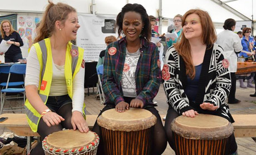
[{"label": "light brown ponytailed hair of the woman in the yellow vest", "polygon": [[51,37],[53,32],[55,31],[55,22],[59,20],[62,24],[64,24],[65,20],[68,17],[68,14],[71,12],[76,12],[76,9],[68,6],[68,4],[54,4],[50,0],[48,0],[48,3],[49,4],[46,7],[46,11],[43,14],[43,18],[38,27],[38,34],[35,38],[34,43]]}]

